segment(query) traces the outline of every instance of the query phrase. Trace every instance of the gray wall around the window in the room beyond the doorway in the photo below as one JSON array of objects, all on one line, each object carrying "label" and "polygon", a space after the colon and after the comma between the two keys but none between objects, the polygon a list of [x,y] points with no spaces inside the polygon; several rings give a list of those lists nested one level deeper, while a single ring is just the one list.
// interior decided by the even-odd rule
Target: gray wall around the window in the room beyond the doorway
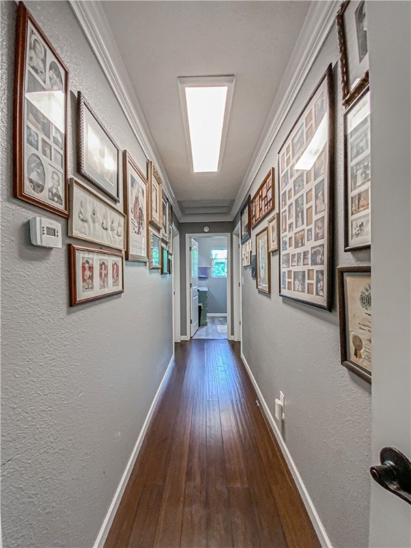
[{"label": "gray wall around the window in the room beyond the doorway", "polygon": [[197,238],[198,241],[198,266],[209,266],[210,275],[207,279],[199,278],[198,285],[208,288],[208,313],[227,313],[227,278],[213,278],[211,275],[211,248],[227,247],[227,238],[215,236],[214,238]]}]

